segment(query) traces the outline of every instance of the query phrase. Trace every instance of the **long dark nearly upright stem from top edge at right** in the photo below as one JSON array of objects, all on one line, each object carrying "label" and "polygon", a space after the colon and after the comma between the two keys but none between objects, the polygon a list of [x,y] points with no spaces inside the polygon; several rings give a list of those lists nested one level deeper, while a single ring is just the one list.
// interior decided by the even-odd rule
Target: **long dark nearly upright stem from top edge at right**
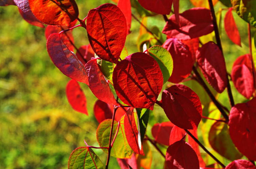
[{"label": "long dark nearly upright stem from top edge at right", "polygon": [[[212,16],[212,22],[213,22],[213,25],[214,25],[216,42],[217,42],[217,45],[219,46],[219,48],[222,52],[222,56],[224,58],[223,49],[222,49],[221,40],[220,40],[219,28],[218,28],[218,25],[217,25],[215,11],[214,11],[214,6],[213,6],[213,3],[212,3],[212,0],[208,0],[208,2],[209,2],[210,9],[211,9],[211,16]],[[225,60],[225,58],[224,58],[224,60]],[[230,86],[230,83],[229,83],[229,80],[228,80],[227,70],[226,70],[226,77],[227,77],[228,98],[229,98],[229,102],[231,104],[231,107],[233,107],[235,105],[235,102],[234,102],[234,98],[233,98],[233,95],[232,95],[231,86]]]}]

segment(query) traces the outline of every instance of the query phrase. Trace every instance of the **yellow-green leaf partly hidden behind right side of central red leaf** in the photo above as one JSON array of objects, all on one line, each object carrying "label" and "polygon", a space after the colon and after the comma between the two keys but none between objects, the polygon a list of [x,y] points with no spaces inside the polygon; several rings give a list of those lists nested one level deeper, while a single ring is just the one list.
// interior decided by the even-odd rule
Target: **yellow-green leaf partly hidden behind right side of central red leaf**
[{"label": "yellow-green leaf partly hidden behind right side of central red leaf", "polygon": [[162,46],[152,46],[147,50],[158,63],[164,78],[164,83],[168,81],[172,75],[173,60],[170,52]]}]

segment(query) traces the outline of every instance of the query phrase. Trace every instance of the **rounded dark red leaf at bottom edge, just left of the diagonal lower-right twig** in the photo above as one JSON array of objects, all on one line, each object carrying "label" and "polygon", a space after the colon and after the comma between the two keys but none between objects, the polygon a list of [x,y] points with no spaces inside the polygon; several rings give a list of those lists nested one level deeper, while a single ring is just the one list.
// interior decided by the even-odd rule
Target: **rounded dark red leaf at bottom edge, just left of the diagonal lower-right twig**
[{"label": "rounded dark red leaf at bottom edge, just left of the diagonal lower-right twig", "polygon": [[168,147],[166,162],[169,169],[199,169],[197,154],[183,140],[175,142]]}]

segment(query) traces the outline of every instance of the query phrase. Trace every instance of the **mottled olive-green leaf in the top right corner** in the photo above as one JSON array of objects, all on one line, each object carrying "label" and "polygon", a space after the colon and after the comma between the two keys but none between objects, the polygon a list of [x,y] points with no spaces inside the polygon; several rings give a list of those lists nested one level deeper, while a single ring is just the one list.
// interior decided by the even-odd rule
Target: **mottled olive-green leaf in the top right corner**
[{"label": "mottled olive-green leaf in the top right corner", "polygon": [[234,10],[243,20],[256,27],[256,1],[231,0]]}]

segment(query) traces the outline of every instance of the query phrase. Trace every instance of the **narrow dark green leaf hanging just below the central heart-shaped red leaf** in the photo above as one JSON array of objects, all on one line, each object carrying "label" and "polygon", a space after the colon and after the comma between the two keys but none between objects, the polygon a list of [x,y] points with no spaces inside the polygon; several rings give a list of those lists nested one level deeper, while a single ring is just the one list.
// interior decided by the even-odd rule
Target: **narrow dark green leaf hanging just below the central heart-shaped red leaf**
[{"label": "narrow dark green leaf hanging just below the central heart-shaped red leaf", "polygon": [[146,134],[146,129],[148,126],[149,122],[149,109],[141,109],[141,108],[136,108],[137,115],[139,118],[139,127],[140,127],[140,137],[141,141],[144,139],[144,135]]}]

